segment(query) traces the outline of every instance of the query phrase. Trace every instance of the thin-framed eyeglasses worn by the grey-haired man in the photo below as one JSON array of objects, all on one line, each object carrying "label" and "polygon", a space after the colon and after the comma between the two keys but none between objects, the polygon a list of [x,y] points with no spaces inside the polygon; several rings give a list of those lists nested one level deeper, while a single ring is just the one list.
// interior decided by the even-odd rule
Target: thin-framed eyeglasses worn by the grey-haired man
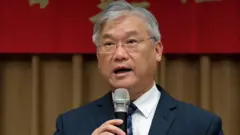
[{"label": "thin-framed eyeglasses worn by the grey-haired man", "polygon": [[[149,37],[147,39],[127,39],[122,42],[121,46],[128,52],[136,51],[138,46],[149,39],[154,39],[154,37]],[[104,43],[101,43],[98,48],[99,51],[102,53],[113,53],[116,51],[117,47],[120,46],[117,42],[114,41],[107,41]]]}]

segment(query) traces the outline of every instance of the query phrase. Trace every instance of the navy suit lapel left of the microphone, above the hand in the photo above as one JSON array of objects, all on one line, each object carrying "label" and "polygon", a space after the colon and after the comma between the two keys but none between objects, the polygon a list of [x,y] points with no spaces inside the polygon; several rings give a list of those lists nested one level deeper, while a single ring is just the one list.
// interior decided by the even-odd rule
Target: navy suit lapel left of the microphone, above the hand
[{"label": "navy suit lapel left of the microphone, above the hand", "polygon": [[94,115],[94,124],[99,127],[104,122],[114,118],[114,107],[112,104],[111,92],[107,93],[97,102],[97,109]]}]

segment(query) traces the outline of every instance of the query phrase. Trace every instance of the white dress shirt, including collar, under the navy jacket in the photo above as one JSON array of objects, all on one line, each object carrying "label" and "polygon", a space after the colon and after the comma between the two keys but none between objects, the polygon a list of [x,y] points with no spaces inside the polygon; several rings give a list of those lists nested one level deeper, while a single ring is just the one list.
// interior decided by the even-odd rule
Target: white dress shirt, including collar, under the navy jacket
[{"label": "white dress shirt, including collar, under the navy jacket", "polygon": [[148,135],[161,93],[156,84],[133,103],[138,107],[132,115],[133,135]]}]

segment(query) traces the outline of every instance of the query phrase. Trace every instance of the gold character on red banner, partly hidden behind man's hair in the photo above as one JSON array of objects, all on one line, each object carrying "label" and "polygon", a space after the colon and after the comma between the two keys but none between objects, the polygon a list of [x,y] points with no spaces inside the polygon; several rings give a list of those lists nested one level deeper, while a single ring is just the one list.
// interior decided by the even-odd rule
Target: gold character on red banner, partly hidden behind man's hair
[{"label": "gold character on red banner, partly hidden behind man's hair", "polygon": [[[101,0],[101,3],[97,5],[98,8],[101,10],[104,10],[111,2],[115,0]],[[150,3],[148,1],[142,1],[142,2],[131,2],[132,5],[138,6],[138,7],[143,7],[143,8],[148,8],[150,6]],[[97,17],[101,14],[102,12],[90,17],[91,22],[95,22]]]}]

